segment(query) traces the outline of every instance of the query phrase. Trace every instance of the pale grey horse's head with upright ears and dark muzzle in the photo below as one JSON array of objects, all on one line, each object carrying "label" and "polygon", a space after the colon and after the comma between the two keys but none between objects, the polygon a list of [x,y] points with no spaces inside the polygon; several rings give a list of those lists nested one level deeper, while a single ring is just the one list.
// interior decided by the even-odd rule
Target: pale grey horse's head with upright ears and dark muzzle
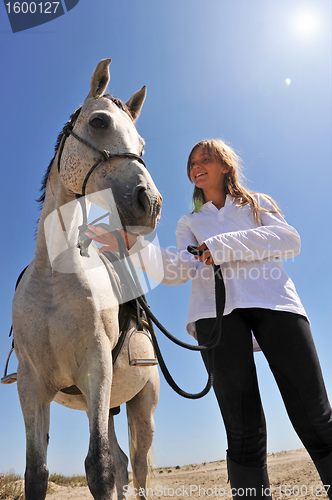
[{"label": "pale grey horse's head with upright ears and dark muzzle", "polygon": [[59,172],[69,191],[78,195],[82,190],[86,195],[95,193],[97,204],[106,210],[112,210],[115,201],[122,224],[148,234],[159,219],[161,196],[141,160],[144,140],[134,124],[146,89],[136,92],[126,104],[105,95],[110,62],[100,61],[92,75],[90,93],[73,134],[64,142]]}]

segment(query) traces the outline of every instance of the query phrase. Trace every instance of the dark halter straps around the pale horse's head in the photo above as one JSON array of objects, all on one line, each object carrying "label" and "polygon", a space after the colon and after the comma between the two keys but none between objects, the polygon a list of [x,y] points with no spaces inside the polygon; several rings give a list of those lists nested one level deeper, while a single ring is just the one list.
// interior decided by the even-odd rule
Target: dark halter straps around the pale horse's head
[{"label": "dark halter straps around the pale horse's head", "polygon": [[[128,159],[128,160],[136,160],[139,163],[141,163],[145,168],[146,165],[144,163],[144,160],[141,156],[136,155],[135,153],[117,153],[117,154],[112,154],[110,151],[107,149],[98,149],[96,148],[93,144],[91,144],[89,141],[86,141],[82,137],[78,136],[76,132],[74,132],[73,128],[76,123],[76,120],[80,114],[81,108],[77,109],[75,113],[73,114],[71,120],[67,125],[65,125],[62,129],[62,138],[61,142],[59,145],[59,153],[58,153],[58,172],[60,173],[61,169],[61,156],[63,153],[64,145],[66,142],[67,137],[72,135],[76,140],[87,146],[89,149],[92,149],[95,153],[99,155],[99,158],[95,161],[95,163],[92,165],[90,170],[85,176],[85,179],[82,184],[82,193],[81,194],[76,194],[76,198],[80,201],[81,207],[82,207],[82,213],[83,213],[83,224],[79,227],[79,237],[78,237],[78,247],[80,248],[81,255],[89,257],[89,254],[87,252],[87,248],[91,242],[90,238],[88,238],[85,234],[86,230],[88,229],[87,222],[88,222],[88,217],[87,217],[87,210],[86,210],[86,203],[85,203],[85,195],[86,195],[86,185],[88,183],[88,180],[90,179],[92,173],[99,167],[99,165],[103,161],[111,162],[113,160],[120,160],[120,159]],[[108,213],[101,217],[104,218]],[[96,222],[96,221],[94,221]]]}]

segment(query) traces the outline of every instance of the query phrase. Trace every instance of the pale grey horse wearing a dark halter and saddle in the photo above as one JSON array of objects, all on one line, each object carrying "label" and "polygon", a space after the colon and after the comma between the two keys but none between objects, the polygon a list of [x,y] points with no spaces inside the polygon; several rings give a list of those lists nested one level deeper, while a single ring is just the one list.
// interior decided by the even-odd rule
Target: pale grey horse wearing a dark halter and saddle
[{"label": "pale grey horse wearing a dark halter and saddle", "polygon": [[[82,107],[58,137],[42,185],[34,259],[13,300],[27,500],[46,496],[52,401],[87,412],[90,441],[85,471],[96,500],[121,499],[127,491],[128,459],[113,423],[116,409],[126,403],[135,492],[139,498],[146,493],[158,367],[129,363],[128,336],[113,363],[120,334],[120,300],[109,280],[114,268],[110,264],[107,271],[100,264],[93,245],[90,259],[76,245],[78,228],[84,223],[82,192],[88,198],[86,210],[91,203],[106,208],[115,229],[146,235],[160,218],[161,195],[142,160],[145,143],[135,127],[146,88],[126,103],[106,94],[110,62],[99,62]],[[129,327],[135,328],[133,318]],[[136,351],[151,355],[147,336],[135,338]]]}]

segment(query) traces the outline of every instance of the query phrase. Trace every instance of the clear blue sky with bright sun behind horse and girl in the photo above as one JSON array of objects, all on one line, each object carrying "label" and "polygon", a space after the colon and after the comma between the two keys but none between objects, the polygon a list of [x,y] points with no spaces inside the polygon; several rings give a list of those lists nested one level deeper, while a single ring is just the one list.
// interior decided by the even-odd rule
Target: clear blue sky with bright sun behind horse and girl
[{"label": "clear blue sky with bright sun behind horse and girl", "polygon": [[[34,255],[35,200],[57,134],[86,97],[99,60],[111,57],[111,93],[127,100],[147,86],[137,127],[164,199],[162,246],[176,244],[177,221],[190,211],[186,160],[207,137],[222,137],[240,153],[248,187],[272,196],[299,231],[301,253],[285,266],[310,317],[332,395],[330,19],[330,0],[80,0],[64,16],[13,34],[0,6],[1,370],[11,346],[14,286]],[[189,293],[190,284],[159,285],[147,295],[155,315],[184,340]],[[206,374],[199,354],[158,337],[178,384],[201,390]],[[264,356],[255,359],[268,451],[302,447]],[[161,377],[155,420],[157,466],[225,458],[212,392],[185,400]],[[124,408],[116,427],[127,452]],[[86,415],[52,403],[49,469],[83,473],[87,448]],[[24,464],[16,384],[2,385],[0,472],[23,474]]]}]

